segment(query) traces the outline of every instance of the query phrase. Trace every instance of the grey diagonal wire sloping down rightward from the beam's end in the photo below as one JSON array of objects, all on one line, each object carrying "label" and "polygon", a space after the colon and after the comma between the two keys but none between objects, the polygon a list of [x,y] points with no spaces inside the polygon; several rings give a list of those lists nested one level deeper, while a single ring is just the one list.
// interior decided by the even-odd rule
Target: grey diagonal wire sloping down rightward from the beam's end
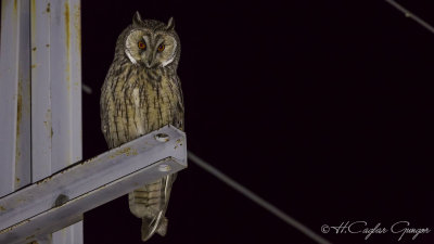
[{"label": "grey diagonal wire sloping down rightward from the beam's end", "polygon": [[255,193],[253,193],[251,190],[244,188],[243,185],[241,185],[237,181],[232,180],[231,178],[229,178],[228,176],[222,174],[220,170],[214,168],[208,163],[204,162],[202,158],[197,157],[196,155],[194,155],[190,151],[189,151],[189,159],[192,160],[197,166],[200,166],[201,168],[205,169],[210,175],[217,177],[222,182],[229,184],[231,188],[233,188],[234,190],[237,190],[238,192],[240,192],[241,194],[243,194],[247,198],[252,200],[253,202],[255,202],[259,206],[264,207],[265,209],[267,209],[268,211],[273,214],[276,217],[280,218],[281,220],[285,221],[288,224],[294,227],[295,229],[297,229],[298,231],[301,231],[305,235],[309,236],[310,239],[312,239],[317,243],[331,244],[329,241],[327,241],[326,239],[321,237],[320,235],[315,233],[312,230],[310,230],[309,228],[307,228],[303,223],[298,222],[297,220],[295,220],[291,216],[286,215],[285,213],[283,213],[282,210],[280,210],[276,206],[273,206],[272,204],[268,203],[266,200],[264,200],[260,196],[258,196]]}]

